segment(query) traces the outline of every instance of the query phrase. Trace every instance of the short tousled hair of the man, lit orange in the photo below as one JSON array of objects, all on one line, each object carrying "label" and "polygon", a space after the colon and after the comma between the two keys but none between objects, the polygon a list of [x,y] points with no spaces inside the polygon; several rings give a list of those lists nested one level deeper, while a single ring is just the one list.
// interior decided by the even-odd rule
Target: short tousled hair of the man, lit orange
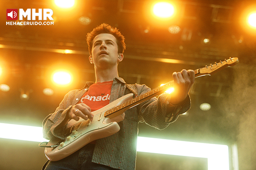
[{"label": "short tousled hair of the man, lit orange", "polygon": [[95,36],[97,36],[98,34],[101,34],[101,33],[109,33],[109,34],[114,35],[117,39],[118,53],[124,53],[125,48],[126,48],[126,44],[124,42],[125,37],[119,32],[119,30],[117,28],[113,28],[112,26],[103,23],[100,26],[97,26],[96,28],[94,28],[91,31],[91,33],[87,34],[86,41],[89,46],[90,55],[91,55],[91,50],[92,50],[93,39],[95,38]]}]

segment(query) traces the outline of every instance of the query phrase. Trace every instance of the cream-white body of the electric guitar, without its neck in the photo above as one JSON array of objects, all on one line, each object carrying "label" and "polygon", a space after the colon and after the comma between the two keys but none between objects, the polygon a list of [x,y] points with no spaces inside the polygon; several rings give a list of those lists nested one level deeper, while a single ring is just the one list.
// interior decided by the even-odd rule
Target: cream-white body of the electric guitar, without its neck
[{"label": "cream-white body of the electric guitar, without its neck", "polygon": [[70,120],[67,124],[67,128],[76,126],[73,129],[73,133],[67,136],[63,141],[59,138],[51,139],[47,146],[56,144],[58,144],[58,146],[55,148],[46,147],[45,154],[47,159],[50,161],[59,161],[96,139],[104,138],[117,133],[120,130],[117,122],[124,119],[125,113],[123,112],[125,110],[120,110],[119,116],[113,119],[104,117],[104,112],[116,105],[119,105],[120,103],[132,99],[132,97],[133,93],[127,94],[118,100],[111,102],[105,107],[93,111],[92,113],[94,118],[91,122],[82,118],[80,118],[78,121],[74,119]]}]

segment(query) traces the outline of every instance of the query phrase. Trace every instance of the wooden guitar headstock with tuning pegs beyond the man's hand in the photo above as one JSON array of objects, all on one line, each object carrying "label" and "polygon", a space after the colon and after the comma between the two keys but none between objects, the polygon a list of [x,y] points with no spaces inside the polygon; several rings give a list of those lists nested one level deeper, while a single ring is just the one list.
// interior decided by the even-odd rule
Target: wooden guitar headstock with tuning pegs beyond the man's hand
[{"label": "wooden guitar headstock with tuning pegs beyond the man's hand", "polygon": [[215,62],[214,64],[210,64],[210,66],[205,66],[204,68],[198,68],[195,71],[195,77],[212,75],[223,68],[231,67],[238,64],[239,60],[237,57],[225,59],[224,61],[219,61],[219,63]]}]

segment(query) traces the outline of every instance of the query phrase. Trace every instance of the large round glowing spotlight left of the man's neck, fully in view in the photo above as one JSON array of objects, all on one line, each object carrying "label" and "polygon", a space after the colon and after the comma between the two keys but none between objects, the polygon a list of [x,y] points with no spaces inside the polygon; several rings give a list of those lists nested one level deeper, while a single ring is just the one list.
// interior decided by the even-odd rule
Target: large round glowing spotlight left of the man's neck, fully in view
[{"label": "large round glowing spotlight left of the man's neck, fully in view", "polygon": [[57,71],[53,75],[53,81],[57,85],[68,85],[71,83],[72,76],[67,71]]}]

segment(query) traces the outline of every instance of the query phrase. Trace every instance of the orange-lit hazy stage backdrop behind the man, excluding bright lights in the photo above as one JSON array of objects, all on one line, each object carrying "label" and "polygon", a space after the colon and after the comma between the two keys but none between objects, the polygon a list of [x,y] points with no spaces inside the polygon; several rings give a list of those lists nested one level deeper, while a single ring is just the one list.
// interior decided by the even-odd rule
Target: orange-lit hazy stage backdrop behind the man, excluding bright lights
[{"label": "orange-lit hazy stage backdrop behind the man, excluding bright lights", "polygon": [[[190,92],[192,107],[186,116],[180,116],[162,131],[140,123],[138,135],[226,144],[230,150],[230,170],[234,169],[231,146],[236,144],[239,168],[255,170],[256,30],[248,28],[245,14],[256,3],[174,2],[176,16],[158,21],[148,12],[150,0],[78,0],[73,9],[66,10],[55,8],[51,0],[0,0],[0,84],[10,86],[9,92],[0,91],[0,122],[40,127],[65,93],[82,88],[86,81],[94,81],[86,34],[107,23],[126,37],[127,50],[119,63],[119,76],[130,84],[155,88],[172,80],[174,71],[202,68],[238,57],[238,65],[196,79]],[[7,8],[51,8],[54,26],[7,26]],[[91,23],[81,23],[82,16],[90,17]],[[171,34],[169,26],[179,26],[181,30]],[[210,43],[203,43],[204,38],[209,38]],[[73,53],[65,54],[65,49]],[[175,59],[177,63],[164,59]],[[57,87],[51,82],[51,71],[59,67],[69,68],[75,75],[70,86]],[[43,94],[47,87],[54,90],[54,95]],[[21,91],[29,92],[29,100],[20,99]],[[211,109],[200,110],[203,102],[210,103]],[[43,148],[35,142],[0,138],[0,150],[1,170],[35,170],[46,161]],[[146,163],[151,160],[155,160],[154,166]],[[206,170],[207,160],[138,153],[137,170],[150,168]]]}]

